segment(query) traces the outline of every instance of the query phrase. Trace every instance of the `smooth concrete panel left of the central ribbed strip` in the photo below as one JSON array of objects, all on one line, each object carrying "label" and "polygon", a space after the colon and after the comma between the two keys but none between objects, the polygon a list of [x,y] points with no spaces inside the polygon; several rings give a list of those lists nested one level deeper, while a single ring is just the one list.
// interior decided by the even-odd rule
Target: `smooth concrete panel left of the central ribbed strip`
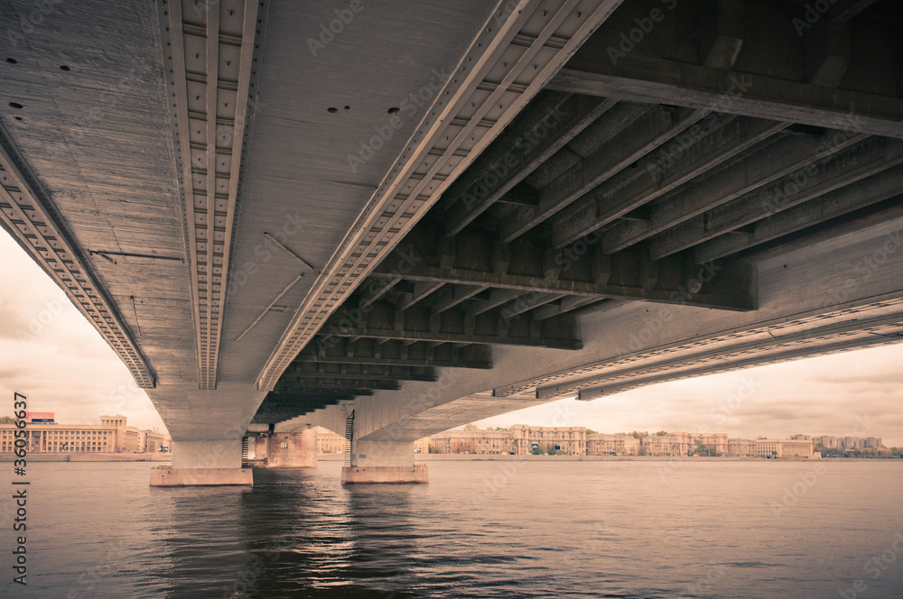
[{"label": "smooth concrete panel left of the central ribbed strip", "polygon": [[[0,5],[0,23],[0,118],[12,141],[88,254],[157,382],[196,377],[156,6],[23,0]],[[156,406],[178,435],[168,403]]]}]

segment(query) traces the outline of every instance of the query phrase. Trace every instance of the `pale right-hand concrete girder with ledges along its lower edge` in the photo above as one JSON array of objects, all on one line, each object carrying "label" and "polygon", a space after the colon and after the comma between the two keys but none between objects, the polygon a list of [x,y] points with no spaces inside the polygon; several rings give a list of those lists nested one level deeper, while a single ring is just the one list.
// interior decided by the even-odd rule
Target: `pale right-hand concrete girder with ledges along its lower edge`
[{"label": "pale right-hand concrete girder with ledges along its lower edge", "polygon": [[[580,395],[600,397],[656,382],[903,340],[903,214],[833,237],[802,237],[754,257],[762,308],[725,312],[639,302],[582,315],[587,346],[554,364],[507,348],[490,371],[412,382],[358,400],[361,440],[422,438],[511,410]],[[808,242],[808,243],[807,243]],[[532,375],[524,377],[524,364]],[[443,381],[446,381],[443,379]]]}]

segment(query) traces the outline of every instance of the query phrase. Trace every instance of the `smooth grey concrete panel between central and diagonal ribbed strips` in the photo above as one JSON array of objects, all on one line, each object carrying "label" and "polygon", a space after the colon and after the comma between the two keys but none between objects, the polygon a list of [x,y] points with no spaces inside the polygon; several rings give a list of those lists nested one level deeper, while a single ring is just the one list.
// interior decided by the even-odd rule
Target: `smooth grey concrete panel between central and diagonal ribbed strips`
[{"label": "smooth grey concrete panel between central and diagonal ribbed strips", "polygon": [[[319,276],[264,234],[322,269],[493,8],[479,0],[409,3],[403,15],[392,3],[363,7],[322,48],[321,26],[328,28],[334,11],[346,5],[275,3],[267,9],[220,381],[254,382]],[[416,96],[422,89],[425,99]],[[404,110],[391,115],[393,106]],[[377,127],[387,127],[389,139],[368,160],[349,164],[349,155],[358,156],[362,143],[378,136]],[[237,340],[302,272],[303,279]]]}]

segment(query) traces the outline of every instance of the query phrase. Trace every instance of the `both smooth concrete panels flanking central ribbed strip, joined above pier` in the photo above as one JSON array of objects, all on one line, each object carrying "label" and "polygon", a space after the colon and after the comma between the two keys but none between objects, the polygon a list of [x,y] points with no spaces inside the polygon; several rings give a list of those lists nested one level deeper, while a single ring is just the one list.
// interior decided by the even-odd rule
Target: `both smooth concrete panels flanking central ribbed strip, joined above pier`
[{"label": "both smooth concrete panels flanking central ribbed strip, joined above pier", "polygon": [[[308,40],[320,39],[334,8],[287,3],[260,14],[266,68],[247,108],[252,152],[242,175],[220,382],[217,392],[199,394],[163,5],[48,5],[37,24],[28,22],[33,3],[0,6],[0,22],[14,33],[0,36],[0,54],[10,59],[0,61],[0,114],[82,249],[107,252],[109,260],[88,259],[157,374],[149,395],[174,439],[223,438],[222,430],[209,433],[211,423],[240,436],[263,397],[254,379],[292,317],[289,307],[316,279],[264,233],[318,268],[325,263],[493,5],[414,4],[404,18],[393,6],[366,5],[334,41],[312,47]],[[89,28],[73,26],[86,21]],[[422,88],[430,97],[409,100]],[[350,170],[348,155],[405,101],[411,109],[396,115],[391,139]],[[338,113],[327,111],[333,106]],[[303,280],[237,342],[300,272]],[[224,386],[229,393],[220,394]],[[237,389],[245,396],[231,394]]]}]

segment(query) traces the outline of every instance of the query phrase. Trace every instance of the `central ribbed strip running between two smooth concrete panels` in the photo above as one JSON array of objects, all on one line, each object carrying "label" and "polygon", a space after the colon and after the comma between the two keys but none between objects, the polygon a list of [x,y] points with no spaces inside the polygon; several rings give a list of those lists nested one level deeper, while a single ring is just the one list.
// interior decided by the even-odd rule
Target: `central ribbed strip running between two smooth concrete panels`
[{"label": "central ribbed strip running between two smooth concrete panels", "polygon": [[[187,6],[187,5],[186,5]],[[182,13],[182,3],[161,9],[169,50],[166,77],[172,122],[176,125],[178,181],[191,263],[195,346],[200,389],[217,388],[228,265],[238,214],[259,60],[257,9],[238,3],[228,20],[221,5]],[[237,15],[233,15],[237,12]],[[223,34],[230,34],[225,41]],[[199,80],[203,81],[200,86]]]}]

